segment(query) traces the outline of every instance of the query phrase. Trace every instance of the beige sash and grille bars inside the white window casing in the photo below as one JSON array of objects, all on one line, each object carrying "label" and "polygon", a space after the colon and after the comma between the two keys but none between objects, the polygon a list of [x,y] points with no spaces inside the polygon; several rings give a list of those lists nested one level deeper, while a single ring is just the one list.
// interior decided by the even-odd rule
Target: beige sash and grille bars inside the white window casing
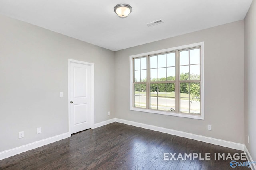
[{"label": "beige sash and grille bars inside the white window casing", "polygon": [[[196,49],[196,48],[198,48],[198,47],[193,47],[193,48],[191,48],[191,49]],[[133,85],[135,86],[136,84],[140,84],[139,85],[139,88],[140,88],[140,92],[138,93],[139,94],[139,96],[138,97],[141,97],[141,88],[142,88],[142,83],[146,83],[146,109],[150,109],[150,100],[151,100],[151,97],[150,97],[150,84],[152,84],[152,83],[154,83],[154,84],[156,84],[157,85],[157,92],[156,92],[156,105],[157,105],[157,107],[156,107],[156,109],[158,110],[159,109],[159,101],[158,101],[158,97],[159,97],[159,90],[161,89],[161,92],[162,92],[162,90],[164,90],[164,89],[162,89],[164,86],[165,86],[165,104],[166,104],[166,106],[165,106],[165,110],[167,111],[167,84],[168,83],[173,83],[173,84],[175,84],[175,94],[174,94],[174,97],[175,97],[175,112],[176,113],[180,113],[181,112],[181,94],[180,94],[180,88],[181,88],[181,86],[180,86],[180,84],[181,83],[186,83],[186,84],[188,84],[188,100],[189,100],[189,106],[188,106],[188,113],[190,113],[191,112],[191,106],[190,106],[190,100],[194,100],[194,97],[192,97],[192,96],[190,96],[190,91],[192,90],[191,89],[191,84],[192,83],[199,83],[200,84],[200,92],[199,92],[199,95],[200,95],[200,97],[199,97],[199,100],[201,100],[201,96],[202,96],[202,88],[201,88],[201,86],[202,86],[202,75],[203,74],[201,74],[202,73],[202,67],[201,67],[201,50],[200,50],[200,63],[199,63],[199,65],[200,65],[200,78],[199,78],[199,80],[191,80],[191,72],[190,72],[190,67],[192,66],[192,65],[197,65],[197,64],[191,64],[190,65],[190,50],[191,49],[177,49],[177,50],[175,50],[175,51],[173,51],[173,52],[175,52],[175,80],[174,81],[168,81],[167,80],[167,77],[168,77],[168,70],[167,70],[167,53],[168,52],[166,52],[165,53],[165,62],[166,62],[166,65],[165,65],[165,68],[166,68],[166,81],[160,81],[160,77],[159,77],[159,61],[158,61],[158,58],[159,58],[159,55],[160,54],[157,54],[156,55],[156,59],[157,59],[157,61],[156,61],[156,64],[157,64],[157,81],[154,81],[154,82],[152,82],[151,81],[151,68],[150,68],[150,55],[147,55],[147,56],[145,56],[146,57],[146,62],[147,62],[147,68],[146,68],[146,75],[147,75],[147,80],[146,80],[146,82],[141,82],[142,80],[140,80],[140,82],[134,82],[133,83]],[[199,49],[201,49],[200,47],[199,47]],[[184,66],[188,66],[188,80],[180,80],[180,52],[181,51],[186,51],[186,50],[188,50],[188,65],[184,65]],[[162,55],[163,53],[161,53],[161,55]],[[138,57],[139,58],[139,57]],[[135,64],[135,61],[133,61],[133,65]],[[140,61],[140,79],[141,79],[141,65],[142,65],[142,63],[141,63],[141,61]],[[172,67],[172,66],[171,66]],[[164,68],[164,67],[161,67],[161,68]],[[135,77],[135,70],[133,71],[133,77]],[[136,74],[137,75],[137,74]],[[134,79],[133,79],[134,80]],[[161,85],[160,85],[161,84]],[[164,84],[164,86],[162,86]],[[138,86],[138,85],[137,85]],[[134,87],[133,87],[134,88]],[[135,97],[136,97],[137,95],[135,95],[134,94],[134,104],[135,104]],[[161,95],[160,95],[161,96]],[[197,98],[197,97],[196,97]],[[141,98],[139,99],[139,102],[141,102]],[[202,112],[201,111],[201,101],[200,101],[200,113]],[[141,104],[140,104],[140,106],[139,107],[141,107]]]}]

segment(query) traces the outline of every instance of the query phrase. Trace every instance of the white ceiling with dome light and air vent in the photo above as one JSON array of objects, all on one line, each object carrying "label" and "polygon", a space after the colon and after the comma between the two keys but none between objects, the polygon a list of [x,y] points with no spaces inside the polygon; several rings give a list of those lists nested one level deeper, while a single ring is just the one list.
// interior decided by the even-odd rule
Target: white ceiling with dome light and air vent
[{"label": "white ceiling with dome light and air vent", "polygon": [[[112,51],[243,20],[252,0],[0,0],[0,14]],[[132,13],[119,18],[114,6]],[[162,19],[164,23],[147,27]]]}]

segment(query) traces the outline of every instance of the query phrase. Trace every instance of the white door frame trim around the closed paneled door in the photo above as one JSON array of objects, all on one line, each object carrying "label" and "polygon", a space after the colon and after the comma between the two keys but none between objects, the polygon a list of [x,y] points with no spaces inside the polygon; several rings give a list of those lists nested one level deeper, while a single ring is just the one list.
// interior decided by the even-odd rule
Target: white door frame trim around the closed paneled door
[{"label": "white door frame trim around the closed paneled door", "polygon": [[85,64],[91,67],[91,78],[90,78],[90,84],[91,84],[91,127],[94,129],[94,63],[88,63],[84,61],[78,61],[73,59],[68,59],[68,133],[69,136],[71,136],[71,108],[70,108],[70,64],[71,63],[77,63],[77,64]]}]

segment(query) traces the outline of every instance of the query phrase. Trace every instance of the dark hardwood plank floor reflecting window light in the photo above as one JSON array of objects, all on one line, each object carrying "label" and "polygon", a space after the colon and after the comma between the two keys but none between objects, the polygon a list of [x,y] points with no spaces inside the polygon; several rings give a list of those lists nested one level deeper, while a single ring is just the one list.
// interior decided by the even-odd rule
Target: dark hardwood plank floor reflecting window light
[{"label": "dark hardwood plank floor reflecting window light", "polygon": [[[197,153],[211,160],[164,160],[164,153]],[[111,123],[68,139],[0,160],[1,170],[240,170],[231,160],[214,160],[214,153],[242,153],[209,143]],[[244,162],[245,160],[237,160]]]}]

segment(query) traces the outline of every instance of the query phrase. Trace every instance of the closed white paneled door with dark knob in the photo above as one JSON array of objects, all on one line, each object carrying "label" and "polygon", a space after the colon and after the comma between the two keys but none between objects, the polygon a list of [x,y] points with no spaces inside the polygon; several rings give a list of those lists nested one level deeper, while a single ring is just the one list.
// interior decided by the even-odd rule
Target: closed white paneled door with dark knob
[{"label": "closed white paneled door with dark knob", "polygon": [[92,125],[93,65],[70,60],[70,130],[71,134]]}]

